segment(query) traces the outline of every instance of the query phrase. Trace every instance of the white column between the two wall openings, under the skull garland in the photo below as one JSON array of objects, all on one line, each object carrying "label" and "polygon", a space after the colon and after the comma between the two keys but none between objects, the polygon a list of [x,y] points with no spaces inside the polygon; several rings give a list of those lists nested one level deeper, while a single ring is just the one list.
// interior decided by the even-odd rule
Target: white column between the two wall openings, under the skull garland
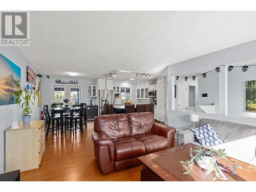
[{"label": "white column between the two wall openings, under the skull garland", "polygon": [[228,73],[227,66],[222,66],[219,75],[219,94],[220,94],[220,104],[219,113],[220,115],[228,115]]}]

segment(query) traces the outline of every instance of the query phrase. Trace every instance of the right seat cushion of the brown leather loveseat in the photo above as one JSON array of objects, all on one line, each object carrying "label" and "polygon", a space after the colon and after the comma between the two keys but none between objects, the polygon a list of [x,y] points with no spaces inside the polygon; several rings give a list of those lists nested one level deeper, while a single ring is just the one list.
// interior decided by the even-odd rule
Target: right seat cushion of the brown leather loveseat
[{"label": "right seat cushion of the brown leather loveseat", "polygon": [[168,140],[166,137],[152,133],[134,136],[137,140],[145,145],[146,154],[159,152],[168,148]]}]

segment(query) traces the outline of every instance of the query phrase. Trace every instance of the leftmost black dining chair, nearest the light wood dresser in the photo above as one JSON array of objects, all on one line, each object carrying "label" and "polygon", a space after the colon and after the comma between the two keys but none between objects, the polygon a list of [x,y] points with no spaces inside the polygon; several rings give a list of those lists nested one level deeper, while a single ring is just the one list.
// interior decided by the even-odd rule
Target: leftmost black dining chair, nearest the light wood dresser
[{"label": "leftmost black dining chair, nearest the light wood dresser", "polygon": [[[50,115],[48,105],[44,105],[44,115],[45,115],[45,129],[46,131],[46,137],[48,137],[49,132],[58,131],[60,129],[60,116],[52,113]],[[55,126],[56,121],[56,126]],[[50,128],[50,124],[52,124],[52,127]]]}]

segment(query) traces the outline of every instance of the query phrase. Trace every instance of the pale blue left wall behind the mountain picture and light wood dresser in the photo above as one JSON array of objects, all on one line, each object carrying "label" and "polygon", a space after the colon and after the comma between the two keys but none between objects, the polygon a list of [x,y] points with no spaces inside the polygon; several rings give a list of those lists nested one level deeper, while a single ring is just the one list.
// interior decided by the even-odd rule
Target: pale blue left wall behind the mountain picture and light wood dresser
[{"label": "pale blue left wall behind the mountain picture and light wood dresser", "polygon": [[[26,60],[22,53],[16,47],[0,47],[0,53],[15,63],[21,69],[21,86],[27,85],[27,66],[33,69],[31,63]],[[33,69],[36,73],[35,69]],[[0,71],[1,73],[1,71]],[[38,81],[38,79],[37,79]],[[36,99],[35,105],[32,106],[32,120],[40,119],[40,107]],[[22,112],[17,104],[0,105],[0,174],[5,170],[5,130],[11,126],[13,121],[22,121]]]}]

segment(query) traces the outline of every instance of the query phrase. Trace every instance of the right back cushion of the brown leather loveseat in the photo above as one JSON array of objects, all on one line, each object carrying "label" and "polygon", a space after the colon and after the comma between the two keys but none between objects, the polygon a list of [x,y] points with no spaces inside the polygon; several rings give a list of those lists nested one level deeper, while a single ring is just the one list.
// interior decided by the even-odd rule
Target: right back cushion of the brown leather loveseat
[{"label": "right back cushion of the brown leather loveseat", "polygon": [[155,123],[154,115],[151,112],[127,114],[132,136],[150,133]]}]

